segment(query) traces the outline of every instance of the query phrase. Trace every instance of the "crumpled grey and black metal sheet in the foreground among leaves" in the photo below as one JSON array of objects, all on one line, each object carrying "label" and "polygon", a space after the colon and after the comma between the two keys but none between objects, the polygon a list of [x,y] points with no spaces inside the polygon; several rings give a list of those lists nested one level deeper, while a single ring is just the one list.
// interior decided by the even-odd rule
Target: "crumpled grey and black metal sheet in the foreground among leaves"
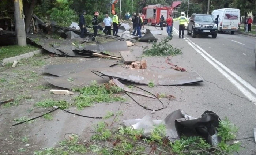
[{"label": "crumpled grey and black metal sheet in the foreground among leaves", "polygon": [[202,136],[210,145],[217,146],[221,141],[216,130],[219,121],[219,116],[212,111],[205,111],[196,119],[179,109],[170,113],[164,120],[152,120],[147,114],[142,119],[124,120],[124,125],[134,129],[144,129],[142,136],[148,137],[155,125],[163,124],[166,126],[166,135],[162,137],[172,142],[179,140],[182,135]]}]

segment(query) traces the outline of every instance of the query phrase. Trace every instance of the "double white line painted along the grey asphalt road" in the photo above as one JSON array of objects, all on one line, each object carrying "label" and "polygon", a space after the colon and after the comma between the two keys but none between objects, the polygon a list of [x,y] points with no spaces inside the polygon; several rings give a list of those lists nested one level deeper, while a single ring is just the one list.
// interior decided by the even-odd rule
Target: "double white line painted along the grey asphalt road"
[{"label": "double white line painted along the grey asphalt road", "polygon": [[[174,28],[174,27],[173,27]],[[177,29],[174,28],[174,30],[177,32]],[[252,91],[255,94],[255,88],[246,82],[244,79],[242,79],[240,76],[238,76],[236,73],[231,71],[229,68],[227,68],[225,65],[223,65],[221,62],[217,61],[215,58],[213,58],[210,54],[208,54],[205,50],[203,50],[200,46],[196,45],[194,42],[192,42],[189,38],[185,37],[188,44],[195,49],[200,55],[202,55],[211,65],[213,65],[219,72],[222,73],[223,76],[225,76],[234,86],[238,88],[250,101],[255,103],[255,95],[251,94],[248,90],[246,90],[241,84],[243,84],[246,88],[248,88],[250,91]],[[198,49],[197,49],[198,48]],[[209,57],[207,57],[207,56]],[[215,62],[215,63],[214,63]],[[218,66],[218,65],[219,66]],[[226,71],[223,71],[223,69]],[[240,83],[238,83],[235,79],[237,79]]]}]

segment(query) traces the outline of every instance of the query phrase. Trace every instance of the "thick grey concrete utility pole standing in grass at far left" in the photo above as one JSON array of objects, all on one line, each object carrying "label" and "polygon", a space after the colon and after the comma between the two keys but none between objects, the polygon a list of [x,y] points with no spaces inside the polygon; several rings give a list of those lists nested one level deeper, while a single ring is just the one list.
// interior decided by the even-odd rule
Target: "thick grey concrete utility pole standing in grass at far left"
[{"label": "thick grey concrete utility pole standing in grass at far left", "polygon": [[27,46],[22,0],[14,0],[15,30],[18,46]]}]

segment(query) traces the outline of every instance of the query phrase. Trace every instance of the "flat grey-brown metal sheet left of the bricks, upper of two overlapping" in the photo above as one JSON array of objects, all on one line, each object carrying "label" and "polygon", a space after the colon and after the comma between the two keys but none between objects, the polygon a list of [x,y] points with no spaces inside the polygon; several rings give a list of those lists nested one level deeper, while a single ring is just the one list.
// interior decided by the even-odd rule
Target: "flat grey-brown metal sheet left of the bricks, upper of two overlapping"
[{"label": "flat grey-brown metal sheet left of the bricks, upper of two overlapping", "polygon": [[92,58],[77,64],[48,65],[45,66],[43,72],[56,76],[64,76],[70,73],[83,71],[87,68],[111,67],[117,63],[119,63],[117,60]]}]

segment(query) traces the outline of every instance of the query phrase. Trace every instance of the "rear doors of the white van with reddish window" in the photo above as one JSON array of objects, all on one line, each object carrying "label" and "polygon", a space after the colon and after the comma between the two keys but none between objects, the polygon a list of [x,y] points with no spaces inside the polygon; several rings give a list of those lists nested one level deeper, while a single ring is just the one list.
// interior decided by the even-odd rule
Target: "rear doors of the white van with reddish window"
[{"label": "rear doors of the white van with reddish window", "polygon": [[229,31],[238,30],[240,11],[239,10],[225,10],[222,29],[229,29]]}]

